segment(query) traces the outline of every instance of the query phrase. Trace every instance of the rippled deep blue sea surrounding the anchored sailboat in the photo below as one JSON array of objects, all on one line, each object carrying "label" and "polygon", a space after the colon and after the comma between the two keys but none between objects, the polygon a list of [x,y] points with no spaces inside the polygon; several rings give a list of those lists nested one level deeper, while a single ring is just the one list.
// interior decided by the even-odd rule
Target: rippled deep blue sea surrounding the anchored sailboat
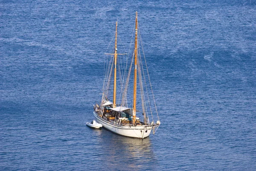
[{"label": "rippled deep blue sea surrounding the anchored sailboat", "polygon": [[[135,12],[161,125],[86,126]],[[0,170],[255,171],[255,0],[1,0]]]}]

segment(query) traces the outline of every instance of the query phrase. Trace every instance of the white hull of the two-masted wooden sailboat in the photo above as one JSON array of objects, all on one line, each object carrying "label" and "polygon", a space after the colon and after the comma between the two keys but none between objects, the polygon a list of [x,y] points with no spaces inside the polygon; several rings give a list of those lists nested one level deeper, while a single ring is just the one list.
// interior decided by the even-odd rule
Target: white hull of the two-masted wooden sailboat
[{"label": "white hull of the two-masted wooden sailboat", "polygon": [[149,136],[152,130],[151,125],[118,125],[99,117],[95,111],[93,111],[93,115],[104,128],[122,136],[143,139]]}]

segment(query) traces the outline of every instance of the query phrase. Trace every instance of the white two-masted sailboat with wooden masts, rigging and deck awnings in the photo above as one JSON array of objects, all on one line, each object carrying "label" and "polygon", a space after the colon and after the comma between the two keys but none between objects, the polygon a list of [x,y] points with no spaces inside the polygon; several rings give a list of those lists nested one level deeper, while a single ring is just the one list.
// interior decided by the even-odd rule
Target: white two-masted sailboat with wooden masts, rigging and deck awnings
[{"label": "white two-masted sailboat with wooden masts, rigging and deck awnings", "polygon": [[[126,70],[122,72],[120,68],[118,69],[119,72],[119,81],[120,81],[120,95],[119,95],[119,102],[121,104],[117,104],[116,101],[116,92],[117,92],[117,68],[120,66],[120,64],[117,64],[119,60],[117,57],[118,55],[127,55],[127,53],[118,54],[117,53],[117,21],[116,21],[116,32],[115,32],[115,46],[113,49],[113,53],[106,53],[106,55],[111,55],[111,58],[109,59],[108,66],[105,67],[105,77],[104,77],[104,83],[103,83],[103,93],[102,93],[102,100],[99,104],[93,105],[93,115],[96,118],[96,121],[107,130],[110,130],[113,133],[122,135],[122,136],[128,136],[133,138],[139,138],[144,139],[149,136],[151,131],[153,133],[156,132],[157,128],[160,126],[160,119],[157,113],[157,108],[155,104],[154,94],[150,82],[149,76],[145,76],[145,72],[148,73],[148,67],[145,64],[143,65],[143,57],[145,59],[145,55],[143,52],[143,55],[140,54],[140,48],[139,48],[139,26],[138,26],[138,15],[136,12],[136,18],[135,18],[135,42],[134,42],[134,50],[132,50],[132,58],[130,60],[127,59],[126,61]],[[142,48],[143,50],[143,48]],[[128,61],[131,62],[130,67],[127,67]],[[124,66],[124,65],[123,65]],[[131,69],[133,69],[133,92],[128,94],[128,84],[130,82],[130,75]],[[112,71],[114,70],[114,73]],[[122,76],[122,73],[123,74]],[[139,78],[139,79],[138,79]],[[111,83],[113,81],[113,101],[110,101],[108,99],[108,96],[110,96],[110,90],[112,88]],[[149,83],[146,83],[149,82]],[[139,86],[137,86],[139,82]],[[149,85],[148,85],[149,84]],[[131,87],[131,86],[130,86]],[[140,96],[137,95],[137,90],[140,90]],[[144,90],[151,90],[147,91],[145,93]],[[112,92],[112,90],[111,90]],[[149,95],[149,93],[152,93],[152,95]],[[132,95],[132,100],[128,100],[130,97],[129,95]],[[137,99],[140,99],[141,101],[138,102]],[[132,101],[132,107],[128,107],[128,102],[131,103]],[[154,103],[154,104],[152,104]],[[138,110],[138,105],[140,105],[140,110]],[[142,111],[141,111],[142,110]],[[150,118],[152,120],[149,120],[149,115],[151,113]],[[153,115],[157,115],[157,121],[154,122]],[[143,119],[140,119],[140,118]]]}]

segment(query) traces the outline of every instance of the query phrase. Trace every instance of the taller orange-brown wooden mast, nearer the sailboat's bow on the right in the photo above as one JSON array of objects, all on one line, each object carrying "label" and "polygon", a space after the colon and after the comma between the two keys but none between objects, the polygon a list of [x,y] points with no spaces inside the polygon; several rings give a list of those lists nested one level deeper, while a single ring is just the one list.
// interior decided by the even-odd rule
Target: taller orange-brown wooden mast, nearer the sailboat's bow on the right
[{"label": "taller orange-brown wooden mast, nearer the sailboat's bow on the right", "polygon": [[136,96],[137,96],[137,35],[138,35],[138,14],[136,12],[135,19],[135,47],[134,47],[134,98],[133,98],[133,119],[132,122],[135,124],[136,120]]}]

